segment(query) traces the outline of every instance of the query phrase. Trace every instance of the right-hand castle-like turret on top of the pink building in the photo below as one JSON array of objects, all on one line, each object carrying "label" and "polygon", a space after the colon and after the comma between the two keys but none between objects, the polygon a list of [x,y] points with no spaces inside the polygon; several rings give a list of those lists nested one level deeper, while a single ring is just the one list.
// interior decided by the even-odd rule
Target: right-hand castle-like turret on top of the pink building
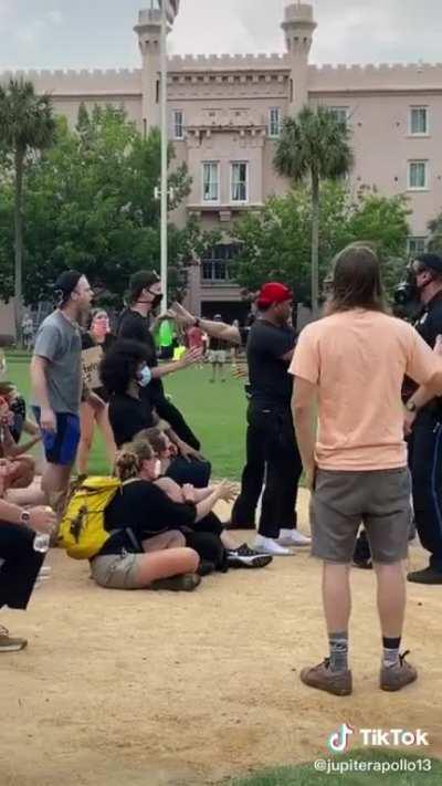
[{"label": "right-hand castle-like turret on top of the pink building", "polygon": [[308,102],[308,55],[316,30],[313,7],[293,3],[285,9],[282,28],[291,62],[290,114],[296,114]]}]

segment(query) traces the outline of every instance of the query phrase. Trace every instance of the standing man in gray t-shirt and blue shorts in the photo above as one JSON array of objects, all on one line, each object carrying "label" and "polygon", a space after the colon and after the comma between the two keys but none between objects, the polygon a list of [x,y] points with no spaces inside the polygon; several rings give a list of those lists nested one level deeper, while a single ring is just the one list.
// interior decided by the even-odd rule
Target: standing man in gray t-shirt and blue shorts
[{"label": "standing man in gray t-shirt and blue shorts", "polygon": [[48,461],[42,490],[50,501],[54,492],[66,489],[80,442],[83,385],[78,322],[88,313],[93,295],[87,279],[74,270],[62,273],[55,291],[59,308],[42,323],[31,363],[33,409]]}]

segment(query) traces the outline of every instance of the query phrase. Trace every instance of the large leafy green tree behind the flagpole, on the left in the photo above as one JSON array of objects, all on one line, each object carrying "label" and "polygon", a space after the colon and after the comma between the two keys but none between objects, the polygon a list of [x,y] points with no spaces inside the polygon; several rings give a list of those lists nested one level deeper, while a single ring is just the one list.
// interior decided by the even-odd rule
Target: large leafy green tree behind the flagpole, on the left
[{"label": "large leafy green tree behind the flagpole, on the left", "polygon": [[[173,149],[169,148],[169,159]],[[171,167],[169,187],[176,209],[190,191],[185,165]],[[160,135],[147,138],[123,109],[82,106],[76,128],[64,118],[57,124],[56,144],[30,169],[25,191],[27,302],[51,294],[62,270],[77,268],[94,285],[123,295],[128,277],[139,269],[159,269],[160,206],[155,188],[160,179]],[[10,185],[0,193],[0,224],[7,222]],[[185,285],[185,269],[198,243],[212,241],[190,221],[183,229],[171,226],[169,261],[171,286]],[[6,260],[1,293],[8,290],[10,243],[0,243]],[[9,265],[8,265],[9,263]]]}]

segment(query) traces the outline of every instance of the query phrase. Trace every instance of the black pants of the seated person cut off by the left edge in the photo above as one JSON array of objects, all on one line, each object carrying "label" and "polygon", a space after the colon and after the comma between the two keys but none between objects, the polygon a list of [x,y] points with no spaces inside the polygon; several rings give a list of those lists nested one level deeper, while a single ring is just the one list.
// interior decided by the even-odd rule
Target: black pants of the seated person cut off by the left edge
[{"label": "black pants of the seated person cut off by the left edge", "polygon": [[0,608],[25,609],[45,554],[33,547],[35,533],[0,522]]}]

